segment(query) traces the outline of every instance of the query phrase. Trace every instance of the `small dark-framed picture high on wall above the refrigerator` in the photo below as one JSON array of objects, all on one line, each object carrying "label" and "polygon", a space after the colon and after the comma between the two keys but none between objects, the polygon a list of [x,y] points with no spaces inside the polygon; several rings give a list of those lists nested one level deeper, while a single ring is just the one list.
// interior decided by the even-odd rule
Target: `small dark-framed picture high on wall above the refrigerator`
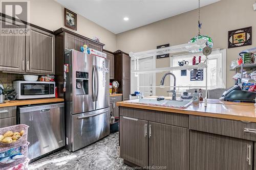
[{"label": "small dark-framed picture high on wall above the refrigerator", "polygon": [[77,30],[77,14],[66,9],[64,10],[65,27]]}]

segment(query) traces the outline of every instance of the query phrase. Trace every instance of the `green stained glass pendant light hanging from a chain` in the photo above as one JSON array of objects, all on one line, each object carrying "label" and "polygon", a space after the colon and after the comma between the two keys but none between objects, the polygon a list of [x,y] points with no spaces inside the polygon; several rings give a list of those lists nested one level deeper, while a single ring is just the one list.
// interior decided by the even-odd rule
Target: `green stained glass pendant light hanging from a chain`
[{"label": "green stained glass pendant light hanging from a chain", "polygon": [[[207,36],[207,35],[201,35],[200,34],[200,29],[202,28],[202,23],[200,23],[200,0],[198,0],[198,35],[196,37],[191,38],[188,43],[192,43],[192,42],[197,42],[198,39],[204,39],[206,40],[206,46],[212,48],[214,46],[214,41],[212,41],[212,39]],[[198,52],[202,52],[203,49],[197,49],[197,50],[191,50],[189,52],[192,53],[198,53]]]}]

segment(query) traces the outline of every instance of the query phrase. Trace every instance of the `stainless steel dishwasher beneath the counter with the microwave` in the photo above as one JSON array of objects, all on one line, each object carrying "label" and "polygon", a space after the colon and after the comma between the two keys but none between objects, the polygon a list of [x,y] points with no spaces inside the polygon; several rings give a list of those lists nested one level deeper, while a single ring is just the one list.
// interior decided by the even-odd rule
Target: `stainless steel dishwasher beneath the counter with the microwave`
[{"label": "stainless steel dishwasher beneath the counter with the microwave", "polygon": [[29,159],[65,145],[64,103],[19,108],[19,123],[29,126]]}]

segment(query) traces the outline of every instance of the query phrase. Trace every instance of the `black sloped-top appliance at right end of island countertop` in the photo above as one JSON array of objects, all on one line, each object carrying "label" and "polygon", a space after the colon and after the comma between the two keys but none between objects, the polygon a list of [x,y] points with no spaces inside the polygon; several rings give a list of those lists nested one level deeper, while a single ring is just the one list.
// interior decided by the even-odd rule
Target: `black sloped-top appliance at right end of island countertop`
[{"label": "black sloped-top appliance at right end of island countertop", "polygon": [[255,102],[256,92],[242,90],[239,85],[235,85],[226,90],[221,100],[230,102]]}]

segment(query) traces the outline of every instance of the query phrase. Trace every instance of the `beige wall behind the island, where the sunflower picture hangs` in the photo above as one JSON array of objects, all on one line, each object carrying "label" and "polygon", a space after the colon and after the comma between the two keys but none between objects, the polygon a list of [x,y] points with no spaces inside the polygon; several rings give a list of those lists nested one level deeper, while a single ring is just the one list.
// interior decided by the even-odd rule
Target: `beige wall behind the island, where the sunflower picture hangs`
[{"label": "beige wall behind the island, where the sunflower picture hangs", "polygon": [[[222,0],[201,8],[201,34],[207,34],[214,40],[214,48],[227,48],[228,31],[252,26],[252,45],[227,49],[227,87],[234,83],[231,79],[234,71],[229,71],[230,62],[236,60],[241,51],[256,45],[256,11],[252,8],[254,3],[254,0]],[[117,35],[117,48],[129,53],[151,50],[164,43],[186,43],[197,35],[197,20],[198,11],[194,10],[120,33]],[[156,61],[156,67],[168,65],[169,58]],[[161,75],[156,76],[157,84]],[[166,80],[166,85],[167,82]],[[158,95],[166,95],[165,91],[166,89],[157,89]]]}]

